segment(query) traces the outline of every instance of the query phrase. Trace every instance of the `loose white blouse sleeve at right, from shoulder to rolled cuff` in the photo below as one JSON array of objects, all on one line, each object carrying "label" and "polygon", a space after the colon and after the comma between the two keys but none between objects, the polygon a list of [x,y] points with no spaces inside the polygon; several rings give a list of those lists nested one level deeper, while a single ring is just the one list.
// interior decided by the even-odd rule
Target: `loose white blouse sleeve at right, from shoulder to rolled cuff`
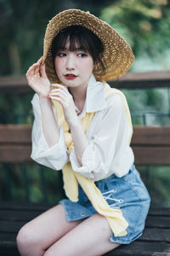
[{"label": "loose white blouse sleeve at right, from shoulder to rolled cuff", "polygon": [[[132,128],[127,122],[122,96],[109,96],[107,105],[108,108],[104,110],[99,125],[95,125],[89,145],[82,154],[82,166],[74,148],[70,154],[73,170],[94,180],[108,177],[109,172],[116,173],[117,166],[121,166],[123,172],[123,168],[127,169],[133,164],[133,152],[129,147]],[[117,172],[116,175],[121,176],[121,173]]]}]

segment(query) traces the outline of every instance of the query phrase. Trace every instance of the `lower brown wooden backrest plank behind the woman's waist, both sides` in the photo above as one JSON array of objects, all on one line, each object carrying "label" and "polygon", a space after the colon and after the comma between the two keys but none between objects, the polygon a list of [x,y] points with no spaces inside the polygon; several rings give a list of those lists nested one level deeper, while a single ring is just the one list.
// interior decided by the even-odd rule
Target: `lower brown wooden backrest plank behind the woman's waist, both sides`
[{"label": "lower brown wooden backrest plank behind the woman's waist, both sides", "polygon": [[[170,165],[170,126],[134,126],[136,165]],[[31,160],[31,125],[0,125],[0,162]]]}]

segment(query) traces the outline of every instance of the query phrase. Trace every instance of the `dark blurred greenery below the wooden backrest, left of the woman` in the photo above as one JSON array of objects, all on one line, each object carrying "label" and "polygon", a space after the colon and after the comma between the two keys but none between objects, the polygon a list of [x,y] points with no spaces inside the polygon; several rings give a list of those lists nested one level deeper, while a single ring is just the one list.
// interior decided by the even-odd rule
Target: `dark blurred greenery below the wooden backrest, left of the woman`
[{"label": "dark blurred greenery below the wooden backrest, left of the woman", "polygon": [[65,197],[61,172],[35,162],[0,164],[0,200],[57,202]]}]

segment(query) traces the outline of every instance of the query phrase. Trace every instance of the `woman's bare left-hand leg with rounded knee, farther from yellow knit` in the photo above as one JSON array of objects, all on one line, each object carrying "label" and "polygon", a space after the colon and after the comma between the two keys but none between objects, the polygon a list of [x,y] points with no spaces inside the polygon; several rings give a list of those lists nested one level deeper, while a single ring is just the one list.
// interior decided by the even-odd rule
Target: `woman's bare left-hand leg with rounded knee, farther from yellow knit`
[{"label": "woman's bare left-hand leg with rounded knee, farther from yellow knit", "polygon": [[17,236],[20,255],[42,256],[48,247],[80,222],[66,222],[62,205],[49,209],[20,229]]}]

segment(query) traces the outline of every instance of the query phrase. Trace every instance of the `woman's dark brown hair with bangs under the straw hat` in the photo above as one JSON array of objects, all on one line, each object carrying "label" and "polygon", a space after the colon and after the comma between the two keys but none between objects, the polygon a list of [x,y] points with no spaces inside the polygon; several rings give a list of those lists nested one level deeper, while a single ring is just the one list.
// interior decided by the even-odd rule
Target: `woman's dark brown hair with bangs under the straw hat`
[{"label": "woman's dark brown hair with bangs under the straw hat", "polygon": [[94,32],[84,26],[67,26],[57,34],[52,44],[53,62],[57,52],[60,49],[65,49],[68,39],[70,41],[69,50],[74,51],[78,47],[88,52],[92,56],[94,64],[99,63],[105,74],[105,65],[101,59],[104,46]]}]

